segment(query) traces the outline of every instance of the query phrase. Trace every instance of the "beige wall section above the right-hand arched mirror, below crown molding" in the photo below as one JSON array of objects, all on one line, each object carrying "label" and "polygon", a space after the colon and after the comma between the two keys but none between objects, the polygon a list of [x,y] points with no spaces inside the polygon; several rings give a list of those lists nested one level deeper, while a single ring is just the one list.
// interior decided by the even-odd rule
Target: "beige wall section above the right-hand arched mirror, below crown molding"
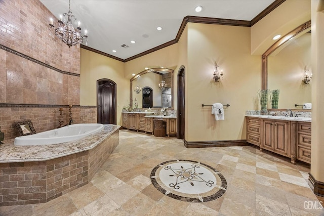
[{"label": "beige wall section above the right-hand arched mirror, below crown molding", "polygon": [[311,18],[310,0],[286,0],[251,27],[251,54],[262,55],[282,36]]}]

